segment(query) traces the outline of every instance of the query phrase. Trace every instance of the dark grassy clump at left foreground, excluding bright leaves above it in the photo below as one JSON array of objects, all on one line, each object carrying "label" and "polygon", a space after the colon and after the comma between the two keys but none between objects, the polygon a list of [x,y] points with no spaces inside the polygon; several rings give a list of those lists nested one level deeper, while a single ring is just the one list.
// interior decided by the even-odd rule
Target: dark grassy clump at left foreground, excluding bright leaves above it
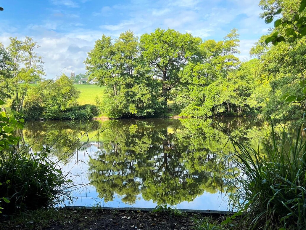
[{"label": "dark grassy clump at left foreground, excluding bright leaves above it", "polygon": [[0,196],[10,201],[2,205],[5,213],[52,207],[70,196],[71,181],[49,161],[46,152],[39,156],[1,153],[0,164],[0,181],[6,182],[0,186]]}]

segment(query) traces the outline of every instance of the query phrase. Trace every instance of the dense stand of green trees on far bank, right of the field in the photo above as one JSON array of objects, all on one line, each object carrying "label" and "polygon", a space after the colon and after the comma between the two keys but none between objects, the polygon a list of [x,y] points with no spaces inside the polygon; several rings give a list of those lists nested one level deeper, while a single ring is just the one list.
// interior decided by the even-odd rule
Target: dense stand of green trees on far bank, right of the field
[{"label": "dense stand of green trees on far bank, right of the field", "polygon": [[[103,35],[84,61],[90,79],[105,87],[101,111],[107,117],[150,117],[172,112],[185,117],[263,114],[300,117],[303,106],[286,102],[301,93],[305,44],[267,45],[262,36],[241,62],[239,34],[205,40],[173,29],[156,29],[138,39]],[[296,68],[300,66],[300,68]]]}]

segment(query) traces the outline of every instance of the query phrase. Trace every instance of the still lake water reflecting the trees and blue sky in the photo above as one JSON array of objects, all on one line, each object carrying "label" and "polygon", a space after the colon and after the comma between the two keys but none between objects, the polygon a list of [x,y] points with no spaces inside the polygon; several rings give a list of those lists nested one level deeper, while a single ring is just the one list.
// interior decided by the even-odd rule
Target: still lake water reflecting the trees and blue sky
[{"label": "still lake water reflecting the trees and blue sky", "polygon": [[[256,118],[28,121],[23,145],[50,147],[77,189],[73,205],[228,210],[218,166],[232,147],[226,133],[254,148],[269,132]],[[68,203],[67,203],[68,205]]]}]

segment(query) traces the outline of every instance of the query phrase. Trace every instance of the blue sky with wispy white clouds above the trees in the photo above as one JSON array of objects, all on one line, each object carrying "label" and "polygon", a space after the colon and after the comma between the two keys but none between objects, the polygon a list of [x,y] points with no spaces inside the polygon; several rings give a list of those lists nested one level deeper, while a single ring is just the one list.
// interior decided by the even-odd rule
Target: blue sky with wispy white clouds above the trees
[{"label": "blue sky with wispy white clouds above the trees", "polygon": [[156,28],[192,33],[203,40],[222,40],[232,28],[240,33],[241,59],[267,33],[259,18],[259,0],[6,0],[0,1],[0,41],[32,36],[41,46],[48,79],[62,68],[85,73],[84,59],[103,34],[126,30],[137,36]]}]

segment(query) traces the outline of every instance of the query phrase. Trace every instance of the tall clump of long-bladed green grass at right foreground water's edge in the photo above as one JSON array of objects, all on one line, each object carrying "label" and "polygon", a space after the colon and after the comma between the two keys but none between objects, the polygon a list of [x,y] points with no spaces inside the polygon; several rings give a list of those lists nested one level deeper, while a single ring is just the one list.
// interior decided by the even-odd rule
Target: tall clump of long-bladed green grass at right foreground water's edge
[{"label": "tall clump of long-bladed green grass at right foreground water's edge", "polygon": [[280,223],[284,228],[305,229],[305,131],[300,125],[293,136],[282,128],[278,140],[271,128],[269,140],[263,139],[263,151],[230,138],[235,149],[229,156],[233,167],[228,172],[234,178],[227,189],[230,204],[245,214],[250,228]]}]

